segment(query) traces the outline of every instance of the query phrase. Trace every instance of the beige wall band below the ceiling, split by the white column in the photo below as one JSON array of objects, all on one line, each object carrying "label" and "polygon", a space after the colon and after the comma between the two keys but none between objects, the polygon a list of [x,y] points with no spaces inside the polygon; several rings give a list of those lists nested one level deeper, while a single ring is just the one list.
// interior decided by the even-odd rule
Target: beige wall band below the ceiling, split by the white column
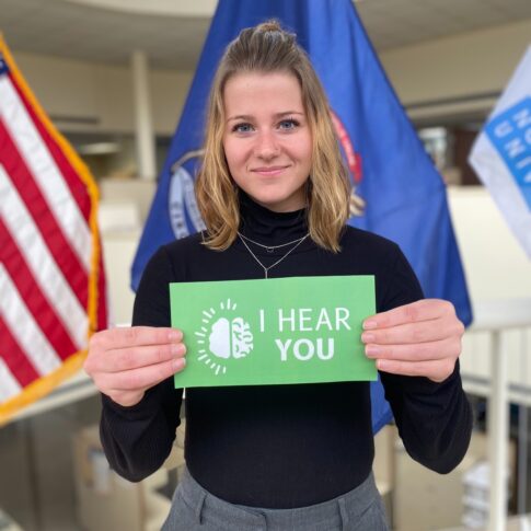
[{"label": "beige wall band below the ceiling, split by the white column", "polygon": [[[55,120],[62,130],[132,132],[132,74],[113,67],[50,56],[13,51],[31,89],[51,117],[95,120]],[[150,72],[155,134],[173,135],[193,72]]]}]

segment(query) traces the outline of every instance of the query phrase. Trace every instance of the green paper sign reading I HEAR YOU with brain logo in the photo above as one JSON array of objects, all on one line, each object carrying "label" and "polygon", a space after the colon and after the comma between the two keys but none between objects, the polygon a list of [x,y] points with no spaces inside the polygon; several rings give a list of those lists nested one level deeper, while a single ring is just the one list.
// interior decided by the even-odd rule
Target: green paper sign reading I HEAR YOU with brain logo
[{"label": "green paper sign reading I HEAR YOU with brain logo", "polygon": [[377,379],[360,339],[372,276],[171,284],[170,300],[187,350],[176,388]]}]

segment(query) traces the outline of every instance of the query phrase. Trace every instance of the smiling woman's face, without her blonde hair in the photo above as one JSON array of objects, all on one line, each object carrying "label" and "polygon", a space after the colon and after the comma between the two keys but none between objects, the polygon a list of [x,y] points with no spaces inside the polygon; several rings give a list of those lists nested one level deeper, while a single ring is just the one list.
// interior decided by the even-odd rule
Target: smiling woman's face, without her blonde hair
[{"label": "smiling woman's face, without her blonde hair", "polygon": [[234,182],[277,212],[304,207],[312,137],[297,78],[239,73],[223,92],[223,149]]}]

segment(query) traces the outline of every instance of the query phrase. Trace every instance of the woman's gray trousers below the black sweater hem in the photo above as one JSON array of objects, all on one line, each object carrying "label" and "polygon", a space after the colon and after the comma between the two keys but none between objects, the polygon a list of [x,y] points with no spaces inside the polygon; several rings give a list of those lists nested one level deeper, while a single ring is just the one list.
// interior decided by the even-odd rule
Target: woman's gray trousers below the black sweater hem
[{"label": "woman's gray trousers below the black sweater hem", "polygon": [[212,496],[185,472],[162,531],[388,531],[372,474],[358,487],[297,509],[232,505]]}]

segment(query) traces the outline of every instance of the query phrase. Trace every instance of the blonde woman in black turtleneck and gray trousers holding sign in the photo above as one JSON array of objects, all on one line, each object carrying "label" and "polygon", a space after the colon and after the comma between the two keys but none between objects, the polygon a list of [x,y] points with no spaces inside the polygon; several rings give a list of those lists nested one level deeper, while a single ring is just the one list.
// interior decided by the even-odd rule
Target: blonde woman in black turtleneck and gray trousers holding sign
[{"label": "blonde woman in black turtleneck and gray trousers holding sign", "polygon": [[[185,338],[170,328],[169,282],[374,275],[366,354],[409,454],[452,470],[472,424],[457,361],[463,325],[450,303],[422,300],[395,244],[346,227],[349,185],[326,97],[276,22],[244,30],[221,60],[196,194],[207,231],[155,253],[134,327],[91,340],[85,369],[103,393],[112,466],[131,481],[151,474],[180,424],[172,374],[185,370]],[[368,382],[188,389],[186,418],[188,472],[164,529],[386,529]]]}]

